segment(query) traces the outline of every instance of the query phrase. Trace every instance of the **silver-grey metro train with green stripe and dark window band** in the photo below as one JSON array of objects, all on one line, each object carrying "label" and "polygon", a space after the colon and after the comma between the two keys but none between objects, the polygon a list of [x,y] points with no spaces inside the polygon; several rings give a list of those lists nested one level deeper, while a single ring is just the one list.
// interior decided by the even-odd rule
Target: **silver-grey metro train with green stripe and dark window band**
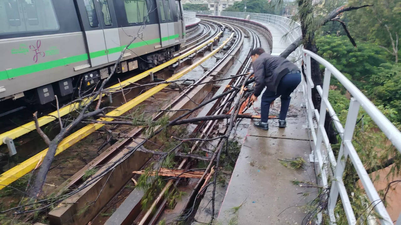
[{"label": "silver-grey metro train with green stripe and dark window band", "polygon": [[[146,26],[144,26],[144,24]],[[185,42],[180,0],[0,0],[0,100],[45,104],[161,64]]]}]

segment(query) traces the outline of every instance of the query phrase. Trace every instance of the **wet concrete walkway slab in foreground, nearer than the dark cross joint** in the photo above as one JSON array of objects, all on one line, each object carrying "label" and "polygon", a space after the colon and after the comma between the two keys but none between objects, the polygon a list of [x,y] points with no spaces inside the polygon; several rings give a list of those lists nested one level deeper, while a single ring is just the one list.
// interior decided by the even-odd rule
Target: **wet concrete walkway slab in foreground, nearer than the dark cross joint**
[{"label": "wet concrete walkway slab in foreground, nearer than the dark cross joint", "polygon": [[[228,224],[238,216],[239,224],[301,224],[308,213],[305,206],[315,198],[304,193],[315,190],[291,181],[314,182],[313,167],[306,163],[303,169],[294,170],[279,159],[300,156],[307,161],[309,153],[309,141],[248,136],[217,221]],[[236,215],[231,209],[239,206]]]}]

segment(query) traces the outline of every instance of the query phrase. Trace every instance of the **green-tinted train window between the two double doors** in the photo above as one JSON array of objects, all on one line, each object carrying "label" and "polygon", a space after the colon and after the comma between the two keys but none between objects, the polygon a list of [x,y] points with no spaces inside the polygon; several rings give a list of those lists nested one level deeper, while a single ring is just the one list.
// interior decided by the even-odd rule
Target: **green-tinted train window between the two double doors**
[{"label": "green-tinted train window between the two double doors", "polygon": [[127,20],[130,24],[149,22],[148,4],[146,0],[125,0],[124,6],[127,14]]}]

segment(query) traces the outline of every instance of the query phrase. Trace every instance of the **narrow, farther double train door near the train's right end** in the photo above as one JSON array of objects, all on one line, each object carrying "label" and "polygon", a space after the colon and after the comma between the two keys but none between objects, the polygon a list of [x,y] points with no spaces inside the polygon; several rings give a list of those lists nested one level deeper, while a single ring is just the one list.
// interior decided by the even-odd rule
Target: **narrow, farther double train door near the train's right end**
[{"label": "narrow, farther double train door near the train's right end", "polygon": [[160,22],[160,38],[162,47],[175,44],[174,20],[168,0],[158,0],[158,13]]}]

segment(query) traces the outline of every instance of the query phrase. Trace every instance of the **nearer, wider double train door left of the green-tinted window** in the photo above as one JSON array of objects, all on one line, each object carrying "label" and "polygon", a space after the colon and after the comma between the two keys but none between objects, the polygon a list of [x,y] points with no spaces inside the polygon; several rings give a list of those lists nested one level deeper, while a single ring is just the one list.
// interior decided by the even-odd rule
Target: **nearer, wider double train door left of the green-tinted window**
[{"label": "nearer, wider double train door left of the green-tinted window", "polygon": [[117,60],[121,53],[112,0],[77,0],[91,66]]}]

